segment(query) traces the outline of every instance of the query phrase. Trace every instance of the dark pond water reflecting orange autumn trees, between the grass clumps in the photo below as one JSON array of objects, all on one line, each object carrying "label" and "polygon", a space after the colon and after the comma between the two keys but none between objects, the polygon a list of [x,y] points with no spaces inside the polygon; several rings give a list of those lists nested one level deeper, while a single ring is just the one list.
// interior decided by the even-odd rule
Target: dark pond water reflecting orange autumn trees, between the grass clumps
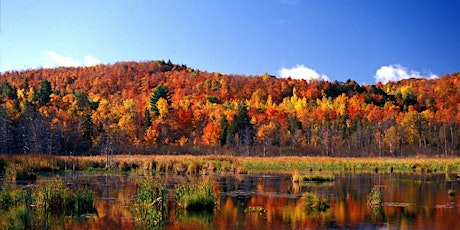
[{"label": "dark pond water reflecting orange autumn trees, between the grass clumps", "polygon": [[[449,229],[460,225],[456,175],[334,176],[329,182],[294,183],[287,174],[152,175],[170,189],[175,184],[210,180],[218,195],[212,213],[172,210],[165,229]],[[63,174],[68,186],[85,184],[93,189],[96,214],[77,221],[67,217],[59,224],[66,229],[134,229],[132,203],[143,177],[138,172]],[[327,199],[329,207],[306,208],[302,200],[306,192]],[[373,204],[376,193],[379,201]]]}]

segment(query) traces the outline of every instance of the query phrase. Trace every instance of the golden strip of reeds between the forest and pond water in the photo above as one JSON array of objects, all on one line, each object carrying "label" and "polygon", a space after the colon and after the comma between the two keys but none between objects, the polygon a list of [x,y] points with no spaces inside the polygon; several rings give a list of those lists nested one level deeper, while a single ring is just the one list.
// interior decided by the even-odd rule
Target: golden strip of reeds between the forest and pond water
[{"label": "golden strip of reeds between the forest and pond water", "polygon": [[[108,161],[107,161],[108,160]],[[65,170],[151,170],[177,174],[305,172],[460,172],[460,158],[234,157],[224,155],[0,155],[8,180]]]}]

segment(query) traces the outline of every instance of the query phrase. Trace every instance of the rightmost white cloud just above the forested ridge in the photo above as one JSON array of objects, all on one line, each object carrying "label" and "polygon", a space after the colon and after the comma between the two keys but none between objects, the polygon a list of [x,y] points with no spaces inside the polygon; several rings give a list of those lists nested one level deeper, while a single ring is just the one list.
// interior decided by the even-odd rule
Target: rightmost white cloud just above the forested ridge
[{"label": "rightmost white cloud just above the forested ridge", "polygon": [[409,78],[437,78],[433,73],[421,74],[418,71],[411,70],[400,64],[388,65],[380,67],[374,75],[376,82],[387,83],[389,81],[399,81]]}]

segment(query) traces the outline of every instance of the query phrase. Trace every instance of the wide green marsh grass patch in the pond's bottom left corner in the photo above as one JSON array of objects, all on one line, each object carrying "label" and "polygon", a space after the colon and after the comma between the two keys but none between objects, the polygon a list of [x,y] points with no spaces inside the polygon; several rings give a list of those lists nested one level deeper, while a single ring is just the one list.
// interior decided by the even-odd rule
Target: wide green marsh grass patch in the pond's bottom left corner
[{"label": "wide green marsh grass patch in the pond's bottom left corner", "polygon": [[66,216],[94,213],[88,187],[69,189],[56,177],[32,187],[5,182],[0,191],[0,229],[51,229]]}]

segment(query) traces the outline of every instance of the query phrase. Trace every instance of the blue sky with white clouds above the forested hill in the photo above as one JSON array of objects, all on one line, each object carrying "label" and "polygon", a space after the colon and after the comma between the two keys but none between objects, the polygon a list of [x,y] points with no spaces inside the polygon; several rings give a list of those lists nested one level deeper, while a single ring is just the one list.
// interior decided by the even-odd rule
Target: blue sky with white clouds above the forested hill
[{"label": "blue sky with white clouds above the forested hill", "polygon": [[0,0],[0,72],[171,60],[355,80],[460,72],[460,1]]}]

